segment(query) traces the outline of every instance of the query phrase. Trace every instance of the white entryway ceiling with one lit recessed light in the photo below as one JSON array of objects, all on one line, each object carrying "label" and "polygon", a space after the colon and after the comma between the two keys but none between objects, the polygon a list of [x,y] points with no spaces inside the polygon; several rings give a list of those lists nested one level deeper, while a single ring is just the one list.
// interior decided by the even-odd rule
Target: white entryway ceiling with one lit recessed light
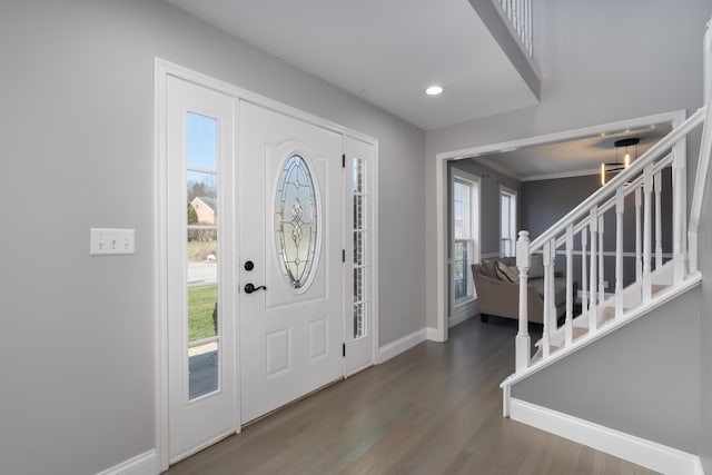
[{"label": "white entryway ceiling with one lit recessed light", "polygon": [[167,1],[422,129],[536,103],[467,0]]}]

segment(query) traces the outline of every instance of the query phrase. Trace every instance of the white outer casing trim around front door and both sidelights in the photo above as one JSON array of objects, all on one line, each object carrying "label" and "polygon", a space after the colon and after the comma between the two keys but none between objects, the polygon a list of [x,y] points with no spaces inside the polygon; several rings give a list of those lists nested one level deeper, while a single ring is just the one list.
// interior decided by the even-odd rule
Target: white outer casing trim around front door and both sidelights
[{"label": "white outer casing trim around front door and both sidelights", "polygon": [[[287,106],[279,101],[266,98],[246,89],[238,88],[228,82],[219,79],[211,78],[204,73],[194,71],[182,66],[166,61],[160,58],[154,59],[154,176],[155,176],[155,241],[154,241],[154,330],[155,330],[155,385],[156,385],[156,452],[158,454],[159,469],[166,471],[169,466],[169,449],[168,449],[168,254],[167,254],[167,204],[166,204],[166,190],[167,190],[167,125],[166,125],[166,79],[168,76],[174,76],[186,81],[195,82],[202,87],[214,89],[218,92],[231,96],[235,99],[247,100],[257,103],[261,107],[273,109],[283,115],[294,117],[298,120],[342,133],[345,137],[352,137],[357,140],[370,144],[374,147],[374,164],[370,167],[370,182],[373,186],[373,200],[370,202],[370,218],[373,229],[373,246],[370,248],[373,259],[370,268],[370,281],[373,286],[370,291],[373,293],[370,298],[373,299],[374,309],[374,347],[373,347],[373,362],[377,362],[378,355],[378,207],[377,207],[377,189],[378,189],[378,140],[367,136],[365,133],[352,130],[338,123],[325,120],[320,117],[304,112],[294,107]],[[239,125],[238,125],[239,127]],[[346,298],[346,297],[345,297]],[[344,318],[348,318],[346,315]],[[236,355],[239,355],[239,347],[236,348]],[[238,375],[239,376],[239,375]],[[238,388],[239,393],[239,388]],[[239,410],[237,412],[237,420],[235,423],[237,432],[239,433]]]}]

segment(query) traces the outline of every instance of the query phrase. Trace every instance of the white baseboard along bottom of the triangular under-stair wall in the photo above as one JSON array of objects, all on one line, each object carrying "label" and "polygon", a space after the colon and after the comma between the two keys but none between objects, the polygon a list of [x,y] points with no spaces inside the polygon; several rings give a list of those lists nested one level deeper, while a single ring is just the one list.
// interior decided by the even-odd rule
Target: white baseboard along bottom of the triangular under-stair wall
[{"label": "white baseboard along bottom of the triangular under-stair wall", "polygon": [[510,399],[510,417],[655,472],[704,475],[696,455],[524,400]]}]

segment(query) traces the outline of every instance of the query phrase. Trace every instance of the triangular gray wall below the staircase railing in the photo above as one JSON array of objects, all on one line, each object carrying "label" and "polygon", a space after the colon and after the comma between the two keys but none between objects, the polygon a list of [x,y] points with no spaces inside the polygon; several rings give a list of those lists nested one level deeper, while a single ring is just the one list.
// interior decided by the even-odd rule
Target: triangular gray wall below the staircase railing
[{"label": "triangular gray wall below the staircase railing", "polygon": [[514,385],[512,397],[696,454],[699,328],[695,287]]}]

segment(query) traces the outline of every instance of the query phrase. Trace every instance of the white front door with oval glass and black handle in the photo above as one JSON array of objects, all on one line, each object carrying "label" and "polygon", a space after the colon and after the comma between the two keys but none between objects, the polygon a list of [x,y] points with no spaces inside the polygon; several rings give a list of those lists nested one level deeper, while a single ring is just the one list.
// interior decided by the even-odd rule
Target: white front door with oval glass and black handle
[{"label": "white front door with oval glass and black handle", "polygon": [[344,375],[344,178],[340,135],[246,101],[239,120],[247,423]]}]

